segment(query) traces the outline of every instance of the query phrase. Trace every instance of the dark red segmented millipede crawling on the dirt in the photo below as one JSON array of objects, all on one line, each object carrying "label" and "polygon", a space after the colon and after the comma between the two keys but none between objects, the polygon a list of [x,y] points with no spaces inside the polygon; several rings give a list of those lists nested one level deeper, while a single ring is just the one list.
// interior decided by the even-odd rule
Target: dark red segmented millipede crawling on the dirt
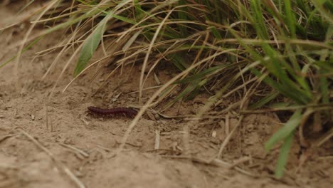
[{"label": "dark red segmented millipede crawling on the dirt", "polygon": [[137,115],[137,110],[132,108],[110,108],[103,109],[97,108],[95,106],[89,106],[88,110],[90,113],[95,115],[127,115],[127,116],[135,116]]}]

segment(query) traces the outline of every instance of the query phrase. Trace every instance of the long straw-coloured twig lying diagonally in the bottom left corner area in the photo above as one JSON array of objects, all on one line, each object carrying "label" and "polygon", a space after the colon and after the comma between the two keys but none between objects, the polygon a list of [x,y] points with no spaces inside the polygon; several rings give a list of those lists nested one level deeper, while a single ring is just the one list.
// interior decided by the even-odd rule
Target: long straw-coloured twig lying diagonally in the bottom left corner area
[{"label": "long straw-coloured twig lying diagonally in the bottom left corner area", "polygon": [[48,149],[46,149],[46,147],[43,147],[43,145],[41,145],[40,142],[38,142],[38,140],[36,140],[34,137],[32,137],[31,135],[28,134],[28,132],[22,130],[21,128],[18,128],[18,131],[20,131],[23,135],[25,135],[26,137],[28,137],[28,139],[30,139],[35,145],[37,145],[41,150],[43,150],[43,152],[46,152],[46,154],[48,156],[51,157],[51,159],[53,160],[53,162],[55,162],[58,167],[60,167],[60,169],[63,170],[63,172],[65,172],[65,174],[68,175],[68,177],[80,188],[85,188],[85,184],[83,184],[83,182],[80,181],[80,179],[78,179],[77,177],[75,177],[75,175],[73,174],[73,172],[70,171],[70,169],[68,169],[68,167],[65,166],[65,164],[63,164],[62,162],[60,162],[60,160],[58,160],[53,153],[51,153]]}]

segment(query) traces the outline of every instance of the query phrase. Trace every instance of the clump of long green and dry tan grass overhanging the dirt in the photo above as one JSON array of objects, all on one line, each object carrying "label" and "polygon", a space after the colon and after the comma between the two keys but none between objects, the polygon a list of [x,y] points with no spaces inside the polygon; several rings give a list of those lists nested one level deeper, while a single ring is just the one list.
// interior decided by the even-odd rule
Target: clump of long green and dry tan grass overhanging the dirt
[{"label": "clump of long green and dry tan grass overhanging the dirt", "polygon": [[[275,170],[278,178],[285,170],[295,134],[306,144],[305,130],[333,129],[329,125],[333,107],[332,1],[52,0],[49,5],[36,12],[39,16],[31,28],[48,26],[40,36],[58,29],[70,31],[58,48],[59,56],[76,48],[73,57],[78,54],[79,58],[73,80],[116,56],[119,60],[114,61],[115,69],[107,78],[128,62],[136,62],[142,66],[142,102],[145,80],[159,71],[159,63],[168,60],[179,69],[179,75],[162,85],[139,115],[168,98],[177,87],[181,92],[164,110],[204,89],[212,96],[199,115],[237,90],[244,93],[243,104],[249,104],[240,105],[240,113],[263,108],[291,112],[285,125],[265,143],[267,151],[282,143]],[[18,58],[36,42],[27,40],[29,34]],[[105,57],[90,63],[97,48],[103,49]],[[1,63],[0,68],[13,59]],[[135,120],[131,127],[134,125]],[[322,139],[327,137],[332,134]]]}]

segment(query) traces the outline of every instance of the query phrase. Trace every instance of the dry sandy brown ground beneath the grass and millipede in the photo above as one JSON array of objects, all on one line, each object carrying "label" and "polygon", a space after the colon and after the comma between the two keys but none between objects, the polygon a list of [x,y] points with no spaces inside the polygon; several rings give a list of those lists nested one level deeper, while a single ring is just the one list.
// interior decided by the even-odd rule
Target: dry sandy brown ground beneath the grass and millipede
[{"label": "dry sandy brown ground beneath the grass and millipede", "polygon": [[[23,11],[23,16],[16,16],[19,9],[15,3],[1,5],[0,27],[28,15]],[[1,33],[1,63],[14,56],[29,26],[23,22]],[[295,140],[285,177],[274,179],[278,147],[270,153],[263,150],[263,143],[282,125],[274,114],[245,116],[221,158],[213,160],[238,125],[239,115],[220,113],[232,99],[213,112],[220,117],[213,120],[145,114],[125,150],[115,155],[132,118],[92,117],[87,107],[138,105],[140,64],[115,73],[92,97],[110,69],[102,69],[90,82],[92,69],[63,93],[73,78],[73,62],[49,98],[71,52],[45,79],[59,51],[39,57],[36,52],[55,46],[59,36],[63,33],[53,33],[24,53],[18,68],[12,62],[0,69],[0,187],[332,187],[332,140],[312,151]],[[159,80],[166,83],[175,73],[172,68],[159,70]],[[147,87],[154,85],[154,78],[147,80]],[[145,92],[143,99],[153,91]],[[164,113],[193,115],[206,97],[199,95]]]}]

